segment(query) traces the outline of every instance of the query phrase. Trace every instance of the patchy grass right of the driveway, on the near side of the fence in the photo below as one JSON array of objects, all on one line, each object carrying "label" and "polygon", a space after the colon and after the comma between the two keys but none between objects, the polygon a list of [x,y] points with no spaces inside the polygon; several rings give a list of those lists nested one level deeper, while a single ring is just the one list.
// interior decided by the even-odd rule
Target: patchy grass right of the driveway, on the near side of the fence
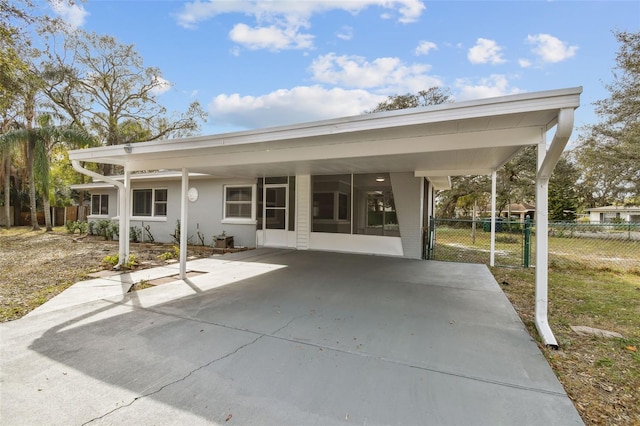
[{"label": "patchy grass right of the driveway, on the near side of the fence", "polygon": [[[534,324],[532,269],[492,272],[574,401],[586,424],[640,425],[640,274],[589,269],[549,272],[549,322],[560,350],[544,347]],[[579,336],[571,325],[624,339]]]}]

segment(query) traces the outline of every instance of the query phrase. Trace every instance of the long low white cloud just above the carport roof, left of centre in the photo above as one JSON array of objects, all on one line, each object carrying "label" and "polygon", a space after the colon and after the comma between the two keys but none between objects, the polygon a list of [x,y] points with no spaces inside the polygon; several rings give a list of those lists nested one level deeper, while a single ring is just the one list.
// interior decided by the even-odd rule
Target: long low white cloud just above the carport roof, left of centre
[{"label": "long low white cloud just above the carport roof, left of centre", "polygon": [[221,94],[209,104],[215,125],[245,129],[303,123],[362,114],[386,96],[366,90],[326,89],[321,86],[299,86],[279,89],[262,96]]}]

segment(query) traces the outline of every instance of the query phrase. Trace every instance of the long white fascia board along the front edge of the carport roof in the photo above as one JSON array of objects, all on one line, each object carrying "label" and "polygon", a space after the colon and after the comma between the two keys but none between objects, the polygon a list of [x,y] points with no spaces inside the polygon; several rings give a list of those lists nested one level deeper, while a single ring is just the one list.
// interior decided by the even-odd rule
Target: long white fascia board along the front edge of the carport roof
[{"label": "long white fascia board along the front edge of the carport roof", "polygon": [[221,145],[255,144],[288,139],[313,138],[359,131],[370,131],[442,121],[456,121],[478,117],[522,112],[577,108],[581,87],[524,93],[481,100],[442,104],[423,108],[363,114],[332,120],[272,127],[260,130],[227,133],[194,138],[139,142],[131,145],[132,152],[123,146],[109,146],[69,151],[69,158],[80,161],[128,163],[137,155],[211,148]]}]

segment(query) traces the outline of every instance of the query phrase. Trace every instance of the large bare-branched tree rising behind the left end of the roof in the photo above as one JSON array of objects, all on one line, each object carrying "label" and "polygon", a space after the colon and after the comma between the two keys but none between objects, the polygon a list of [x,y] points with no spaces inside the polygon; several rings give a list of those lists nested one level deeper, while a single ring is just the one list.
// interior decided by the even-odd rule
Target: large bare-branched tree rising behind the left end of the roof
[{"label": "large bare-branched tree rising behind the left end of the roof", "polygon": [[[168,83],[158,68],[144,67],[133,45],[81,30],[69,34],[64,45],[64,52],[49,50],[46,93],[102,145],[182,137],[198,130],[198,119],[204,119],[199,103],[169,117],[158,101]],[[112,171],[105,165],[105,174]]]}]

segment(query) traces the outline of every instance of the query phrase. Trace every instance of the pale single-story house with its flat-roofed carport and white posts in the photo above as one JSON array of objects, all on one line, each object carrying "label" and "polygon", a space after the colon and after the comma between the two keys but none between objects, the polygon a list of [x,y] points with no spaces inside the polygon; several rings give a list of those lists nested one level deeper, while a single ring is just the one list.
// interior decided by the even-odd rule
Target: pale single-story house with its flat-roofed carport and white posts
[{"label": "pale single-story house with its flat-roofed carport and white posts", "polygon": [[[69,158],[79,172],[117,188],[117,206],[116,190],[104,187],[92,213],[119,218],[121,259],[132,223],[163,224],[160,236],[177,219],[181,247],[199,227],[207,236],[233,234],[241,245],[420,259],[435,191],[450,188],[450,176],[491,175],[495,212],[496,171],[526,146],[538,148],[537,227],[546,229],[549,178],[581,93],[576,87],[82,149]],[[81,162],[122,166],[124,176],[102,176]],[[141,171],[173,171],[180,179],[139,178]],[[556,346],[546,320],[547,232],[536,238],[536,324]],[[180,254],[184,278],[186,250]]]}]

